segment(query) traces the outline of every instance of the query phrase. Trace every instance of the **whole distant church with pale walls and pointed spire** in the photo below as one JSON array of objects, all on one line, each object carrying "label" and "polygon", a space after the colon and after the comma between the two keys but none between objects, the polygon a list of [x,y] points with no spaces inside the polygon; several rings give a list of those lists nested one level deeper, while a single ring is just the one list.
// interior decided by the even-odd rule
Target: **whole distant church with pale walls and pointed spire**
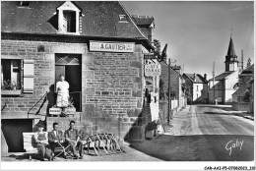
[{"label": "whole distant church with pale walls and pointed spire", "polygon": [[214,79],[209,80],[209,101],[215,103],[231,103],[232,93],[238,88],[238,60],[235,54],[232,37],[230,37],[225,56],[225,71]]}]

